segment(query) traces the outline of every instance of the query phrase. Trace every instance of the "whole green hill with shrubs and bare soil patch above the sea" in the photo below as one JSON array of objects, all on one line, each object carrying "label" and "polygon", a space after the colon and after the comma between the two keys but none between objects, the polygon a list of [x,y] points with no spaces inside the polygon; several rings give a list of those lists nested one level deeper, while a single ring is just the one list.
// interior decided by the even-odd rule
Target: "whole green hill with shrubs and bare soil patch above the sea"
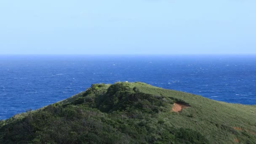
[{"label": "whole green hill with shrubs and bare soil patch above the sea", "polygon": [[256,106],[145,83],[93,84],[0,121],[0,144],[256,144]]}]

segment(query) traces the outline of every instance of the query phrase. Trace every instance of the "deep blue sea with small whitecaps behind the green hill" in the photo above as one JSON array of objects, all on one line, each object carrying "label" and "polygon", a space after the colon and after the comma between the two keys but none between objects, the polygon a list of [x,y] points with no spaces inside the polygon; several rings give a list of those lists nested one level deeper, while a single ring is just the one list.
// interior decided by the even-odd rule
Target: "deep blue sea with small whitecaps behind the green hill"
[{"label": "deep blue sea with small whitecaps behind the green hill", "polygon": [[141,81],[209,99],[256,104],[256,56],[0,56],[0,119],[85,91]]}]

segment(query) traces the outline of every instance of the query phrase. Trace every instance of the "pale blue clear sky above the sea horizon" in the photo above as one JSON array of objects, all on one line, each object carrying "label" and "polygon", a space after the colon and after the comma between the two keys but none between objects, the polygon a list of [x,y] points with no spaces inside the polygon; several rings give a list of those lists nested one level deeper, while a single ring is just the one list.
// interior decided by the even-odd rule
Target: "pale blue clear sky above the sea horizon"
[{"label": "pale blue clear sky above the sea horizon", "polygon": [[256,54],[256,0],[0,0],[0,54]]}]

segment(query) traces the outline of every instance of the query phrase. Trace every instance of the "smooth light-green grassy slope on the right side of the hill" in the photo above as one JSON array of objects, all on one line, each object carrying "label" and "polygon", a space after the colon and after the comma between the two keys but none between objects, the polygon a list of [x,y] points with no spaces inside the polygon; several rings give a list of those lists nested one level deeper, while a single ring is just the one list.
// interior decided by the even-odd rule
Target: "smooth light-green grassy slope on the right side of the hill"
[{"label": "smooth light-green grassy slope on the right side of the hill", "polygon": [[[211,142],[216,140],[232,142],[236,138],[244,141],[242,133],[246,133],[246,131],[250,131],[251,133],[248,135],[256,140],[256,136],[252,134],[256,132],[255,105],[229,104],[202,96],[148,85],[140,85],[140,90],[144,93],[171,96],[189,103],[191,107],[183,109],[178,114],[173,112],[161,114],[162,117],[165,117],[165,121],[171,125],[200,131]],[[234,132],[233,127],[242,128],[243,130]],[[234,135],[234,133],[237,133],[237,135]]]}]

